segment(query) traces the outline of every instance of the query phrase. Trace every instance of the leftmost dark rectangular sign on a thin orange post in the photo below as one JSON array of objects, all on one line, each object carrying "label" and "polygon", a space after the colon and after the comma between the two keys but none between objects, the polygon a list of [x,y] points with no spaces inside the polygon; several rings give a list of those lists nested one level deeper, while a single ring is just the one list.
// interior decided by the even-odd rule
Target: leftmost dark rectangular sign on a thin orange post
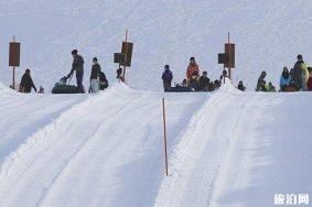
[{"label": "leftmost dark rectangular sign on a thin orange post", "polygon": [[15,36],[13,36],[13,42],[10,42],[9,47],[9,66],[13,69],[12,89],[15,89],[15,67],[20,66],[21,43],[15,42]]}]

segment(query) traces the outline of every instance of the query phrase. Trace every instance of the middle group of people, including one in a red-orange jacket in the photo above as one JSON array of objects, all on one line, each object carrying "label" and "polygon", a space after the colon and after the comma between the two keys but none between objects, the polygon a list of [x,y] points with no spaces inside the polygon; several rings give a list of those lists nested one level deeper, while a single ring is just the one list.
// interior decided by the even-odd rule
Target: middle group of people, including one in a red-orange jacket
[{"label": "middle group of people, including one in a red-orange jacket", "polygon": [[[176,84],[174,87],[192,88],[195,91],[213,91],[220,87],[224,78],[228,78],[227,72],[223,70],[223,74],[219,79],[211,81],[207,77],[207,72],[203,72],[200,75],[200,67],[196,64],[195,57],[190,58],[190,64],[186,68],[186,78],[183,79],[182,84]],[[170,66],[164,66],[164,72],[162,74],[162,83],[164,91],[169,91],[172,87],[173,75],[170,70]],[[245,90],[243,81],[239,81],[238,89]]]}]

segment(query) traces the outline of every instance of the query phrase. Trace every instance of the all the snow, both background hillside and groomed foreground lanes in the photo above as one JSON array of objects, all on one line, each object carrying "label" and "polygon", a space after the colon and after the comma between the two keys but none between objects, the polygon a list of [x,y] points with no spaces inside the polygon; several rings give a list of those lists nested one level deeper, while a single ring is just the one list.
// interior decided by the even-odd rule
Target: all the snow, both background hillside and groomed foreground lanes
[{"label": "all the snow, both background hillside and groomed foreground lanes", "polygon": [[[1,1],[0,207],[263,207],[273,206],[276,194],[311,200],[312,94],[251,91],[261,70],[278,83],[299,53],[311,63],[311,7],[303,0]],[[135,42],[128,86],[114,81],[112,63],[126,29]],[[232,83],[214,92],[160,91],[163,65],[180,83],[191,56],[218,78],[216,54],[228,31],[237,50]],[[30,67],[47,94],[7,87],[13,34],[22,42],[17,79]],[[98,56],[110,88],[49,92],[69,72],[73,48],[85,57],[85,86]],[[233,86],[239,79],[249,91]]]}]

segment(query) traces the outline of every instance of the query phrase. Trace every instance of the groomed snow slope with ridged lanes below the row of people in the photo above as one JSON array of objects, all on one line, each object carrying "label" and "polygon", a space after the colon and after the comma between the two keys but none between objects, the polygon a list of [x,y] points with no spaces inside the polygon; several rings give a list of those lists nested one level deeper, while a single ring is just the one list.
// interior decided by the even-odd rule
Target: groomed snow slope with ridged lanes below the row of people
[{"label": "groomed snow slope with ridged lanes below the row of people", "polygon": [[[161,98],[165,97],[169,176]],[[311,92],[0,86],[0,206],[273,206],[312,196]]]}]

